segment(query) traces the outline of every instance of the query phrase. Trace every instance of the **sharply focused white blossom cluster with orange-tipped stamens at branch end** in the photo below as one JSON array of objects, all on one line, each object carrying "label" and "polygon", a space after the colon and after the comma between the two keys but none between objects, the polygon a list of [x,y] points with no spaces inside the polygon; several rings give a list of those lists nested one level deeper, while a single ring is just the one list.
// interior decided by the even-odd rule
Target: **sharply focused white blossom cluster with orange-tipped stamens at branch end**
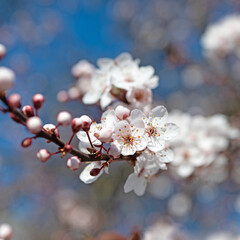
[{"label": "sharply focused white blossom cluster with orange-tipped stamens at branch end", "polygon": [[[148,116],[140,110],[130,111],[118,106],[115,110],[104,112],[101,123],[92,123],[88,132],[77,133],[80,151],[89,154],[94,148],[100,153],[107,153],[112,159],[138,154],[134,172],[129,175],[124,190],[143,195],[147,181],[159,170],[167,169],[166,163],[173,159],[165,141],[177,136],[178,127],[168,123],[167,117],[168,112],[163,106],[155,107]],[[108,172],[104,162],[106,160],[103,159],[89,164],[80,174],[80,179],[92,183],[104,170]]]}]

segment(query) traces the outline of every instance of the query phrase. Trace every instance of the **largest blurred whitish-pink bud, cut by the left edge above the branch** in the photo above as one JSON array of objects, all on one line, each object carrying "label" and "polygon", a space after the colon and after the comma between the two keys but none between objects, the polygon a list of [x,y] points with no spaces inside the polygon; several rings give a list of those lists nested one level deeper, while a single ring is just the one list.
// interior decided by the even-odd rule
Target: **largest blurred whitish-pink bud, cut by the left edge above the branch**
[{"label": "largest blurred whitish-pink bud, cut by the left edge above the branch", "polygon": [[0,91],[6,91],[13,87],[15,73],[6,67],[0,67]]}]

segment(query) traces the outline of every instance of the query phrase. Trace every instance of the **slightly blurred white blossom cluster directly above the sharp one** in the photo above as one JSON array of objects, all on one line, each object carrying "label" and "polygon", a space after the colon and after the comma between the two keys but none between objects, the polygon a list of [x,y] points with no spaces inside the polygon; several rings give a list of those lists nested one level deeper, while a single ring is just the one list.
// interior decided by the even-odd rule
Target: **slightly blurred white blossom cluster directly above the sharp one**
[{"label": "slightly blurred white blossom cluster directly above the sharp one", "polygon": [[[91,72],[89,82],[84,83],[84,89],[86,86],[88,89],[83,96],[83,103],[99,102],[102,109],[116,99],[136,108],[151,103],[152,89],[158,86],[158,77],[154,75],[152,66],[140,67],[139,62],[129,53],[122,53],[116,59],[99,59],[98,68]],[[86,62],[84,63],[86,65]],[[78,66],[80,68],[80,65]]]}]

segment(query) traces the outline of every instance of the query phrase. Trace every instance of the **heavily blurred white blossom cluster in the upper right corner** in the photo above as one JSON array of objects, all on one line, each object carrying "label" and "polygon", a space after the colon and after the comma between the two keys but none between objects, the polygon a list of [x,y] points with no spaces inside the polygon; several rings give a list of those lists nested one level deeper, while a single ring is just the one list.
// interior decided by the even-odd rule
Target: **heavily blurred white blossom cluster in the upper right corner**
[{"label": "heavily blurred white blossom cluster in the upper right corner", "polygon": [[229,15],[207,27],[201,39],[205,53],[209,57],[239,53],[240,15]]}]

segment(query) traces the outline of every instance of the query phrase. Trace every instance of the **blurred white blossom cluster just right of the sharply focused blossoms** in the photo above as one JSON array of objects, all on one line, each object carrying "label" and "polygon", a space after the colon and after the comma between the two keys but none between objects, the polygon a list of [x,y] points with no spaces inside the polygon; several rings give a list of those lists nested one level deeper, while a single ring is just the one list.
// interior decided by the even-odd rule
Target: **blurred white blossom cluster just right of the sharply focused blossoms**
[{"label": "blurred white blossom cluster just right of the sharply focused blossoms", "polygon": [[169,114],[169,119],[180,127],[171,148],[175,154],[174,172],[182,178],[214,162],[225,163],[227,159],[224,161],[226,157],[221,153],[227,150],[231,139],[240,136],[239,130],[232,128],[221,114],[203,117],[175,111]]}]

